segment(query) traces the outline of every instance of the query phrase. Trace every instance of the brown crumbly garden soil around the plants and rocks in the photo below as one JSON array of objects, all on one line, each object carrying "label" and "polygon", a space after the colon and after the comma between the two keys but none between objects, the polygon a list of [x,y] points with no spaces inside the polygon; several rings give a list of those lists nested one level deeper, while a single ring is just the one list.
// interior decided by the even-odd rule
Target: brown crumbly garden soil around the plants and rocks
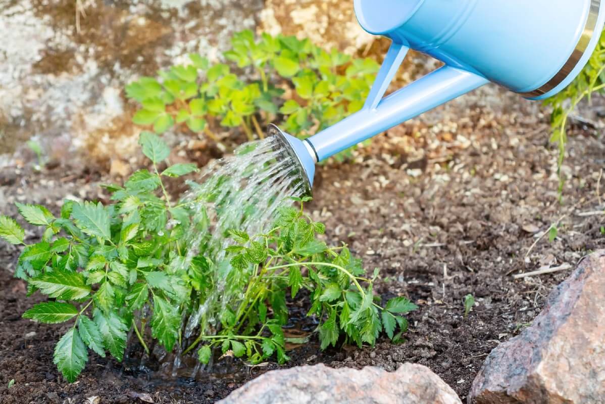
[{"label": "brown crumbly garden soil around the plants and rocks", "polygon": [[[461,399],[492,348],[518,334],[539,313],[551,288],[571,270],[514,279],[514,274],[572,267],[603,248],[600,193],[603,140],[576,127],[567,146],[564,200],[557,199],[557,151],[548,145],[545,116],[468,108],[465,118],[413,121],[356,152],[355,162],[318,168],[315,200],[307,208],[327,225],[326,240],[347,242],[367,270],[381,270],[376,292],[405,295],[419,305],[410,314],[407,342],[381,339],[375,347],[319,350],[298,346],[286,366],[376,365],[394,370],[414,362],[439,374]],[[15,170],[13,170],[15,171]],[[15,216],[14,200],[57,204],[66,194],[100,197],[105,174],[77,168],[21,168],[0,173],[0,213]],[[56,210],[56,209],[55,209]],[[542,236],[558,224],[557,237]],[[34,231],[28,237],[36,239]],[[535,243],[535,245],[534,245]],[[247,380],[280,366],[224,363],[204,380],[173,379],[157,364],[117,363],[94,354],[76,383],[52,363],[62,325],[21,319],[27,299],[12,278],[17,248],[0,243],[0,403],[211,403]],[[463,316],[463,297],[476,305]],[[129,348],[137,356],[137,346]],[[8,388],[10,380],[15,380]]]}]

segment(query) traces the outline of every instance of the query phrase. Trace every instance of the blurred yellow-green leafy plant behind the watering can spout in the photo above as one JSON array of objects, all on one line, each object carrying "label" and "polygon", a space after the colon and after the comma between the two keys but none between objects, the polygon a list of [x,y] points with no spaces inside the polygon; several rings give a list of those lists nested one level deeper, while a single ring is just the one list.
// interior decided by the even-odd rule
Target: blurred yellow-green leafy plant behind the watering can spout
[{"label": "blurred yellow-green leafy plant behind the watering can spout", "polygon": [[[215,127],[241,127],[252,140],[253,131],[264,137],[259,122],[276,121],[306,137],[361,109],[379,70],[373,59],[352,59],[294,36],[255,38],[245,30],[231,44],[224,53],[231,64],[212,65],[192,54],[191,64],[129,84],[126,95],[141,105],[134,123],[156,133],[184,125],[216,140],[208,125],[214,122]],[[234,73],[242,68],[253,71],[255,79]]]}]

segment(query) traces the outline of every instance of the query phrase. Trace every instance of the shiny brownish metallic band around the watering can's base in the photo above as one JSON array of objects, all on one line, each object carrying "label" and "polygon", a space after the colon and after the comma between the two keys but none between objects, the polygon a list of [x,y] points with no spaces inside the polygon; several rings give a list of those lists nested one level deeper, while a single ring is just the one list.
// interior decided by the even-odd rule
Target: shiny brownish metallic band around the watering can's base
[{"label": "shiny brownish metallic band around the watering can's base", "polygon": [[563,67],[561,67],[561,70],[559,70],[558,73],[542,87],[534,91],[529,91],[528,93],[520,93],[523,97],[534,98],[544,95],[557,87],[557,85],[561,84],[561,82],[563,82],[567,76],[571,74],[578,62],[580,62],[582,56],[584,56],[584,52],[586,52],[588,48],[590,39],[592,39],[592,36],[594,35],[595,28],[597,28],[597,20],[600,8],[601,0],[592,0],[590,2],[590,10],[588,13],[588,18],[586,19],[586,25],[584,25],[584,31],[580,36],[578,44],[575,45],[575,49],[571,56],[569,56],[569,59],[567,59],[567,62],[565,62]]}]

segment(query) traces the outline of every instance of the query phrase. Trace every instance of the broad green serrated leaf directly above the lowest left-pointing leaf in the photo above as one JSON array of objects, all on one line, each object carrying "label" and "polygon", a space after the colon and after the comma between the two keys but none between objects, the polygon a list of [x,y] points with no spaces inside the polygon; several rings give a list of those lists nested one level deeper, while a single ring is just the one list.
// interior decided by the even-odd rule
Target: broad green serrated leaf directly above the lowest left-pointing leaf
[{"label": "broad green serrated leaf directly above the lowest left-pointing leaf", "polygon": [[82,274],[56,269],[32,278],[30,283],[49,297],[59,300],[77,300],[90,294],[90,286]]}]

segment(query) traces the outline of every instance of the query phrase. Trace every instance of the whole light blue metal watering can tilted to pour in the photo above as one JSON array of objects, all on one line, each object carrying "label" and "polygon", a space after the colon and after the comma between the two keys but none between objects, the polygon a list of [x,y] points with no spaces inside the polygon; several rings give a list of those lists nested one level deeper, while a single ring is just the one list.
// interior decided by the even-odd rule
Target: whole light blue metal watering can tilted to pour
[{"label": "whole light blue metal watering can tilted to pour", "polygon": [[[570,84],[592,55],[605,0],[355,0],[364,30],[393,42],[364,107],[304,141],[270,125],[310,194],[315,164],[488,82],[530,100]],[[383,98],[407,51],[443,67]]]}]

